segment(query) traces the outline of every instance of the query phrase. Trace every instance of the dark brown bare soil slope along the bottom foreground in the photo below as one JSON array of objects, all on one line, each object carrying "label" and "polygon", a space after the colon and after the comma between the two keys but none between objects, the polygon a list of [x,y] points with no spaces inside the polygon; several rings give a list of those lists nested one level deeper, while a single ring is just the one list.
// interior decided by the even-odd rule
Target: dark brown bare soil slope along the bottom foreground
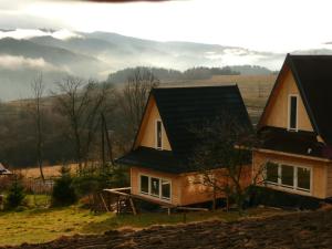
[{"label": "dark brown bare soil slope along the bottom foreground", "polygon": [[43,245],[14,248],[324,249],[332,248],[332,210],[293,212],[235,222],[155,226],[138,231],[113,230],[100,236],[62,237]]}]

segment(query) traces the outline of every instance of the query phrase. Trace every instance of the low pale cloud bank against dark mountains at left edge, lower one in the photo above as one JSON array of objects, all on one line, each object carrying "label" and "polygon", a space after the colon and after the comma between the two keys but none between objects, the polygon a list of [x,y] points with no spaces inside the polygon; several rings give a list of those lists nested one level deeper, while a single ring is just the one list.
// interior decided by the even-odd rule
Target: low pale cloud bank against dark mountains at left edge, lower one
[{"label": "low pale cloud bank against dark mountains at left edge, lower one", "polygon": [[12,71],[23,69],[34,69],[41,71],[61,71],[61,69],[49,62],[45,62],[42,58],[32,59],[24,56],[13,56],[8,54],[0,55],[0,68]]}]

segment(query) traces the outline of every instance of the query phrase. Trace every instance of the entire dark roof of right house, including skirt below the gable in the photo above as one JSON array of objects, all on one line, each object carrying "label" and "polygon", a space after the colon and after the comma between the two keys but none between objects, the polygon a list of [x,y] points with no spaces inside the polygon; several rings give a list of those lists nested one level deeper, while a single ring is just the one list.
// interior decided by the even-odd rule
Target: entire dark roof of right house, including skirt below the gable
[{"label": "entire dark roof of right house, including skirt below the gable", "polygon": [[[287,132],[286,129],[283,129],[281,133],[279,131],[279,135],[277,135],[274,131],[273,133],[276,138],[267,142],[269,144],[268,147],[274,147],[276,151],[281,152],[297,151],[293,153],[300,153],[304,155],[308,155],[305,148],[311,147],[313,151],[320,151],[314,153],[315,156],[331,158],[330,151],[332,147],[332,55],[288,54],[284,60],[283,66],[280,71],[280,74],[282,73],[284,66],[289,66],[289,69],[293,73],[307,113],[314,128],[314,133],[311,133],[311,138],[309,138],[308,134],[305,135],[302,132],[294,134],[293,132]],[[279,82],[278,79],[274,84],[274,89]],[[260,124],[259,127],[262,129],[266,128],[262,127]],[[315,148],[315,146],[318,145],[315,137],[317,135],[320,135],[323,138],[323,141],[326,144],[325,146],[322,143],[319,143],[319,148]],[[277,138],[277,136],[280,137]],[[282,145],[282,139],[286,139],[289,143]],[[280,142],[279,144],[278,141]]]}]

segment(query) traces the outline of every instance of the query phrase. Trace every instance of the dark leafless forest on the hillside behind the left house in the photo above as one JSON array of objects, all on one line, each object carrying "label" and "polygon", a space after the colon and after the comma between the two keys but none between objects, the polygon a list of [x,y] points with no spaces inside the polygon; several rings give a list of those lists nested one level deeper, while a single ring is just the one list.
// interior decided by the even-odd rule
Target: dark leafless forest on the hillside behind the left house
[{"label": "dark leafless forest on the hillside behind the left house", "polygon": [[51,95],[45,79],[37,75],[31,84],[34,98],[0,102],[0,163],[28,167],[38,165],[38,158],[43,165],[100,159],[106,151],[105,126],[116,157],[131,148],[151,87],[238,74],[229,66],[185,72],[138,66],[110,74],[105,82],[66,76],[54,84]]}]

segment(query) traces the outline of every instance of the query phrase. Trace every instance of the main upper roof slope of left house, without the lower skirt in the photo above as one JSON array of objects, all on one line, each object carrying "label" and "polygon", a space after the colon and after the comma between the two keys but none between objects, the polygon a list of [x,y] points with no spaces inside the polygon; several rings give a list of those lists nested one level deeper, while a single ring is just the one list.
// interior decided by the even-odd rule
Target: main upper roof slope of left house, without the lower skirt
[{"label": "main upper roof slope of left house, without the lower skirt", "polygon": [[225,112],[251,128],[247,108],[237,85],[154,89],[155,96],[174,155],[186,162],[197,146],[193,128]]}]

